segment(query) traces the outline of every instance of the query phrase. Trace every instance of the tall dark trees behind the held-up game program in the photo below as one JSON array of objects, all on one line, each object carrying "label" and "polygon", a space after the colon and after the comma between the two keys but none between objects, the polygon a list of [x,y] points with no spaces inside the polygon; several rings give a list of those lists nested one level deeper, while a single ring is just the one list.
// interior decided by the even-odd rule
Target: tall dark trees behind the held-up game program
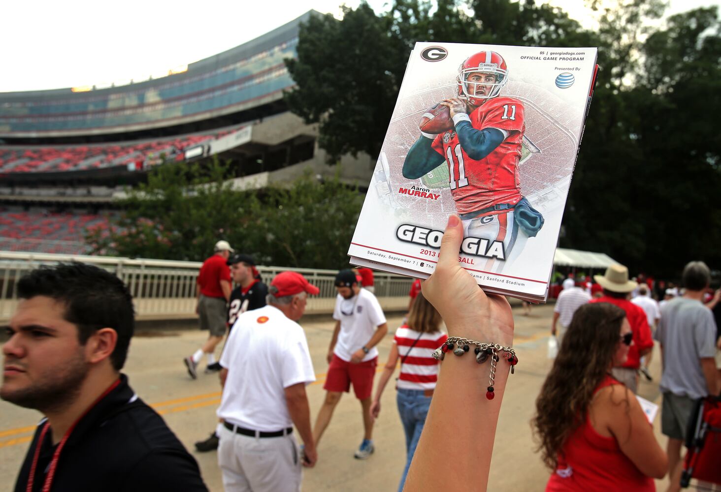
[{"label": "tall dark trees behind the held-up game program", "polygon": [[376,156],[416,41],[598,46],[601,71],[561,246],[603,251],[657,276],[678,274],[691,256],[719,264],[721,205],[711,199],[721,185],[717,9],[658,27],[650,21],[663,15],[663,1],[587,3],[598,12],[596,31],[534,0],[395,0],[378,15],[361,4],[340,21],[311,21],[288,62],[298,85],[288,106],[320,123],[331,156]]}]

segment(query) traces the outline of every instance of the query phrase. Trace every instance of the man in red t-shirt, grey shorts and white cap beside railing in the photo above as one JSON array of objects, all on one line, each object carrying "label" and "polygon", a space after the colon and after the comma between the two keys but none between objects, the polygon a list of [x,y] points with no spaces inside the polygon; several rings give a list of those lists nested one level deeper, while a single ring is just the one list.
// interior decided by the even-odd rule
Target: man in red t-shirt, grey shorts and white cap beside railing
[{"label": "man in red t-shirt, grey shorts and white cap beside railing", "polygon": [[215,254],[203,261],[198,273],[198,305],[195,312],[198,313],[200,329],[208,330],[208,341],[196,350],[190,357],[185,357],[185,367],[193,379],[198,377],[198,363],[203,354],[208,354],[208,365],[216,362],[216,346],[221,342],[226,332],[226,321],[228,319],[227,303],[230,299],[231,281],[230,269],[226,264],[228,257],[235,250],[230,247],[228,241],[218,241],[215,246]]}]

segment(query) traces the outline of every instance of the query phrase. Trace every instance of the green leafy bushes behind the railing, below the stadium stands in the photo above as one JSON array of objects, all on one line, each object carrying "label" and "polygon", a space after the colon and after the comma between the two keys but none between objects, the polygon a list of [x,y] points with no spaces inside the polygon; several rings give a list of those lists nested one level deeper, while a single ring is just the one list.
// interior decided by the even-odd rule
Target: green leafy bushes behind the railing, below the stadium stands
[{"label": "green leafy bushes behind the railing, below the stadium stands", "polygon": [[110,231],[89,231],[95,253],[200,261],[226,239],[259,264],[337,269],[361,211],[358,189],[306,174],[287,187],[238,191],[226,165],[164,164],[128,190]]}]

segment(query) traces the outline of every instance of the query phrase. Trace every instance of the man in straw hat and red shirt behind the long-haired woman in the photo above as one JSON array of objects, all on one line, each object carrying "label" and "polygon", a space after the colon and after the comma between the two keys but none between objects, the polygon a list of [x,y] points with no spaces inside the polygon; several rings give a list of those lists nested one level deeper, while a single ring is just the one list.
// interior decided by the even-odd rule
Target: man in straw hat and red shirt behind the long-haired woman
[{"label": "man in straw hat and red shirt behind the long-haired woman", "polygon": [[653,350],[653,336],[646,313],[628,300],[637,283],[629,280],[626,267],[617,264],[608,267],[605,275],[594,275],[593,279],[603,287],[603,296],[591,300],[591,303],[611,303],[626,311],[626,318],[633,332],[633,343],[629,347],[626,362],[621,367],[614,367],[612,373],[617,380],[636,393],[641,357]]}]

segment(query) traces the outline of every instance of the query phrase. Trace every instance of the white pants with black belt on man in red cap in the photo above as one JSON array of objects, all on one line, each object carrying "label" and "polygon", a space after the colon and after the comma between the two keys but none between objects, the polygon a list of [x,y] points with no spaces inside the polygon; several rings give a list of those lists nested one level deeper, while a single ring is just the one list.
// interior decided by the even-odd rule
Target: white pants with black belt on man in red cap
[{"label": "white pants with black belt on man in red cap", "polygon": [[226,492],[298,492],[301,453],[293,434],[249,437],[221,429],[218,466]]}]

